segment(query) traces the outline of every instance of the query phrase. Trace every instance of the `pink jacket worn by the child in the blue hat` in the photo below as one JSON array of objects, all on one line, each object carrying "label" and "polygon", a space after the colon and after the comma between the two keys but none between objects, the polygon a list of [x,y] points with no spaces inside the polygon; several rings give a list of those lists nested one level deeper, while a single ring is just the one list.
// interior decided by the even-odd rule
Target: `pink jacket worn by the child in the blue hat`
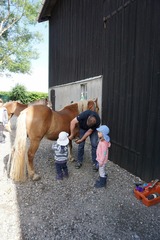
[{"label": "pink jacket worn by the child in the blue hat", "polygon": [[97,161],[100,166],[105,164],[108,161],[108,148],[111,146],[110,142],[106,142],[105,140],[99,141],[97,146]]}]

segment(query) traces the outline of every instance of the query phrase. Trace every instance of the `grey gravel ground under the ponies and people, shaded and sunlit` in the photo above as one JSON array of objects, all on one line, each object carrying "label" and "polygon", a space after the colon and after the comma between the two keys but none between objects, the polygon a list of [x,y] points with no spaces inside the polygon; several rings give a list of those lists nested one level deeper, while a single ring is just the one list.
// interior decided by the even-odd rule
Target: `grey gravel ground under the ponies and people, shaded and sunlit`
[{"label": "grey gravel ground under the ponies and people, shaded and sunlit", "polygon": [[[1,240],[159,240],[160,204],[147,207],[133,194],[139,180],[109,161],[107,187],[95,189],[90,146],[80,169],[68,163],[67,180],[55,180],[52,142],[43,139],[35,156],[41,180],[20,184],[7,178],[5,163],[15,136],[0,144]],[[74,145],[74,156],[77,146]]]}]

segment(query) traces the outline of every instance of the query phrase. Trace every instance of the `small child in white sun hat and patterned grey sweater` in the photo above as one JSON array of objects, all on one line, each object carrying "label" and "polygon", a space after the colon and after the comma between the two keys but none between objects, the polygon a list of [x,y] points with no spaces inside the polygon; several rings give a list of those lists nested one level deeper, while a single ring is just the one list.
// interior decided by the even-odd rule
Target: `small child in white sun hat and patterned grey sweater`
[{"label": "small child in white sun hat and patterned grey sweater", "polygon": [[52,145],[52,149],[55,153],[55,167],[56,167],[56,179],[63,180],[63,177],[68,178],[68,139],[69,134],[66,132],[60,132],[57,143]]}]

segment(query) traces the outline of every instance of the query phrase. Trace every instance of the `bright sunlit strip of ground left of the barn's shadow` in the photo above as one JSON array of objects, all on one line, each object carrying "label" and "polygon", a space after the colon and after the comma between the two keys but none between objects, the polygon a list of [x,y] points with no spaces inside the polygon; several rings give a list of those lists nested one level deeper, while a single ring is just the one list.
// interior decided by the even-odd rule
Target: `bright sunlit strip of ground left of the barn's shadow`
[{"label": "bright sunlit strip of ground left of the barn's shadow", "polygon": [[14,183],[7,177],[6,163],[14,139],[14,132],[4,132],[6,143],[0,144],[0,239],[19,240],[20,227],[16,188]]}]

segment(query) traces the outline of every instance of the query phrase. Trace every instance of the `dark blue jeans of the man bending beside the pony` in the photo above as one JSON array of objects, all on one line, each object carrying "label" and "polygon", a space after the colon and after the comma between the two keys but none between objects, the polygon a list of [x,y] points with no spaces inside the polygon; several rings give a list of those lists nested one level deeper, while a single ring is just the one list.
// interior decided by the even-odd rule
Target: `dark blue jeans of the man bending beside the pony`
[{"label": "dark blue jeans of the man bending beside the pony", "polygon": [[[87,130],[80,129],[79,131],[79,136],[80,138],[83,137],[83,135],[87,132]],[[91,154],[92,154],[92,162],[93,164],[97,164],[96,161],[96,150],[97,150],[97,145],[98,145],[98,133],[95,130],[90,136],[90,142],[91,142]],[[79,163],[82,163],[83,161],[83,156],[84,156],[84,146],[85,146],[85,141],[80,143],[78,145],[78,159],[77,161]]]}]

